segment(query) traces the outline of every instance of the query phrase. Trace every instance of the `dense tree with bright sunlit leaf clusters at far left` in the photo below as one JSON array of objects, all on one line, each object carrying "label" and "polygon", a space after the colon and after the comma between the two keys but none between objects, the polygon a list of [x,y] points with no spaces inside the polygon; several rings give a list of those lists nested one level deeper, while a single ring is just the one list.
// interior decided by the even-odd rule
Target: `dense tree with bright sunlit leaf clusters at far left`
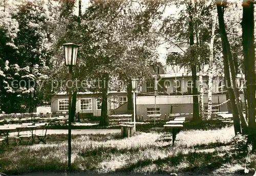
[{"label": "dense tree with bright sunlit leaf clusters at far left", "polygon": [[[4,111],[14,113],[28,108],[28,93],[31,91],[36,91],[35,105],[43,103],[47,98],[49,100],[43,82],[48,78],[51,67],[57,14],[52,11],[53,4],[46,5],[43,1],[8,3],[8,8],[0,17],[0,20],[5,21],[0,26],[1,37],[4,39],[0,44],[0,57],[5,63],[1,70],[7,75],[4,84],[1,84],[1,103]],[[9,15],[8,20],[12,20],[12,33],[9,33],[6,15]]]}]

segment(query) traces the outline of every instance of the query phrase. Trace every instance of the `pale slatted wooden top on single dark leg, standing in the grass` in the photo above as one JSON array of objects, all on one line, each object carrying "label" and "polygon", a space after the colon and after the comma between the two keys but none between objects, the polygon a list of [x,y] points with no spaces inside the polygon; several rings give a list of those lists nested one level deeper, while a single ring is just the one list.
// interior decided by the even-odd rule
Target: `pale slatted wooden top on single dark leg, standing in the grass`
[{"label": "pale slatted wooden top on single dark leg, standing in the grass", "polygon": [[171,128],[172,129],[172,134],[173,134],[173,146],[174,146],[174,141],[176,139],[176,136],[178,134],[178,129],[181,129],[183,127],[183,123],[185,122],[184,120],[181,120],[181,118],[176,118],[174,120],[170,120],[166,122],[165,125],[163,125],[165,128]]}]

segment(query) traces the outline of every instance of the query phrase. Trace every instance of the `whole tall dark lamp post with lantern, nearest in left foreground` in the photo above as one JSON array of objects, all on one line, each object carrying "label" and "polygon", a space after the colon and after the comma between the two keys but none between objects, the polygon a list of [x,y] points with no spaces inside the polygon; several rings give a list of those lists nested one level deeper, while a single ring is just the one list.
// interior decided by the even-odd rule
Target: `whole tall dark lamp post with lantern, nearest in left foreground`
[{"label": "whole tall dark lamp post with lantern, nearest in left foreground", "polygon": [[62,45],[65,55],[65,64],[69,67],[69,131],[68,131],[68,170],[71,170],[71,98],[72,98],[72,69],[76,65],[78,45],[65,43]]}]

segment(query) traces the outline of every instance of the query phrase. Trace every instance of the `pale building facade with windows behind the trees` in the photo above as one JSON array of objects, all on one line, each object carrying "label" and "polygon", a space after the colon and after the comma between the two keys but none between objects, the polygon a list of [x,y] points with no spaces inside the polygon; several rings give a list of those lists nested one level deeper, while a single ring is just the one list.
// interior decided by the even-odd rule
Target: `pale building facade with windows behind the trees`
[{"label": "pale building facade with windows behind the trees", "polygon": [[[157,73],[156,79],[146,80],[142,82],[141,89],[136,96],[136,114],[143,116],[149,114],[161,114],[164,118],[165,114],[193,113],[193,95],[191,73],[187,72],[187,68],[179,68],[176,65],[168,74],[164,74],[164,69],[152,66]],[[207,109],[207,93],[208,93],[208,65],[204,67],[203,83],[204,83],[204,106]],[[197,87],[199,92],[199,75],[197,78]],[[242,87],[240,78],[239,86]],[[154,89],[158,89],[158,95],[154,96]],[[214,78],[212,82],[212,105],[220,106],[212,107],[215,111],[227,111],[225,82],[220,78]],[[243,97],[243,95],[241,95]],[[244,100],[242,98],[242,100]],[[156,102],[156,109],[155,109]],[[173,108],[171,108],[173,106]],[[52,112],[68,112],[68,95],[60,93],[52,97]],[[171,112],[172,109],[172,112]],[[92,114],[93,116],[101,115],[101,94],[98,93],[78,93],[76,101],[76,113]],[[112,91],[108,93],[108,115],[127,113],[127,92]],[[132,112],[129,112],[132,113]]]}]

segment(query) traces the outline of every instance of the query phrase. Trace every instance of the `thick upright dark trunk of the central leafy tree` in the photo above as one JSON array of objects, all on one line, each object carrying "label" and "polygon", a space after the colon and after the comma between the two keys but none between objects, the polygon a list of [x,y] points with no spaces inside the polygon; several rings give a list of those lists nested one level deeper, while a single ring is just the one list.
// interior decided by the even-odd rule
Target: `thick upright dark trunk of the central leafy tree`
[{"label": "thick upright dark trunk of the central leafy tree", "polygon": [[102,79],[102,105],[101,105],[101,118],[99,122],[99,126],[109,126],[108,120],[108,82],[109,82],[109,74],[105,73]]}]

